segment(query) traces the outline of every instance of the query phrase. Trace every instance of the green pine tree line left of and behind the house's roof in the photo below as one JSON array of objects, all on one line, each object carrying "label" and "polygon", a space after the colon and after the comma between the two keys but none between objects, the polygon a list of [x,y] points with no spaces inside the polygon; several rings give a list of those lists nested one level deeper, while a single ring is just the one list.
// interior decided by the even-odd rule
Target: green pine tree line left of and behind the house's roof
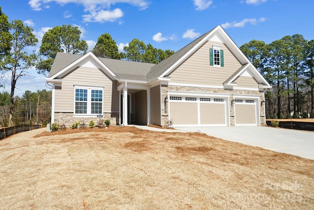
[{"label": "green pine tree line left of and behind the house's roof", "polygon": [[[26,117],[21,114],[23,111],[20,110],[19,106],[20,97],[15,97],[14,95],[18,79],[27,75],[27,70],[34,66],[37,69],[37,73],[47,77],[58,52],[87,53],[88,45],[85,40],[80,38],[80,35],[81,31],[77,26],[55,26],[44,34],[39,53],[35,53],[31,49],[37,46],[38,39],[33,33],[33,28],[24,25],[21,20],[9,22],[8,17],[2,12],[0,7],[0,87],[5,84],[6,79],[10,80],[11,86],[10,93],[2,93],[7,104],[0,105],[1,107],[3,106],[3,111],[1,112],[3,116],[1,115],[1,117],[5,124],[6,122],[8,126],[16,124],[20,121],[20,119],[17,120],[20,116],[23,118],[23,122],[30,120],[32,114],[35,113],[31,112]],[[143,41],[138,39],[133,39],[129,46],[124,47],[124,52],[119,53],[116,42],[108,33],[104,33],[98,38],[92,52],[98,57],[148,63],[158,63],[174,53],[174,51],[163,51],[154,48],[151,44],[145,45]],[[7,94],[9,94],[9,98],[7,98]],[[39,98],[40,94],[38,95],[38,100]],[[49,102],[45,97],[42,99]],[[39,101],[37,108],[40,104]],[[39,118],[39,115],[36,115],[36,122],[39,122]],[[46,117],[43,119],[47,120]]]}]

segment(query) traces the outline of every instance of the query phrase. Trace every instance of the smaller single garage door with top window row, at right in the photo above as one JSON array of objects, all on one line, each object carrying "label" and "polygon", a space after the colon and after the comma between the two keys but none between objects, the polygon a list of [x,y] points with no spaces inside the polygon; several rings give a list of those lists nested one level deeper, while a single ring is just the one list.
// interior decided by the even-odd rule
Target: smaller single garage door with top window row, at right
[{"label": "smaller single garage door with top window row, at right", "polygon": [[256,99],[235,99],[235,125],[256,126],[257,108]]}]

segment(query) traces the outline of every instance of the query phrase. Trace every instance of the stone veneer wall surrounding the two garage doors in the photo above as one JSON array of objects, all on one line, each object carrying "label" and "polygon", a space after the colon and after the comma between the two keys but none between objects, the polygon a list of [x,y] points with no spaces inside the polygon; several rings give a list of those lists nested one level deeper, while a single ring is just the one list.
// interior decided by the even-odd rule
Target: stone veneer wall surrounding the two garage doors
[{"label": "stone veneer wall surrounding the two garage doors", "polygon": [[[230,102],[234,99],[233,94],[243,94],[243,95],[259,95],[260,103],[264,100],[263,91],[256,90],[229,90],[229,89],[221,89],[221,88],[206,88],[206,87],[187,87],[187,86],[175,86],[175,85],[161,85],[161,116],[162,116],[162,126],[165,126],[165,123],[169,120],[168,110],[165,112],[164,100],[165,97],[168,96],[168,90],[170,91],[187,91],[187,92],[201,92],[201,93],[229,93]],[[169,103],[169,99],[168,99]],[[168,109],[168,103],[166,109]],[[230,106],[230,126],[235,126],[235,109],[234,105]],[[260,118],[261,125],[265,125],[265,112],[264,105],[260,106]]]}]

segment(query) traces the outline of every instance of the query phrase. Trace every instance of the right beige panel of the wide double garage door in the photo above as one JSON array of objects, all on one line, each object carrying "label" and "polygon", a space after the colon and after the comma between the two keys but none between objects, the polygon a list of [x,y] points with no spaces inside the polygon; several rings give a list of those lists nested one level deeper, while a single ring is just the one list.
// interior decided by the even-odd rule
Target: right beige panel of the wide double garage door
[{"label": "right beige panel of the wide double garage door", "polygon": [[200,104],[201,124],[226,124],[225,104]]}]

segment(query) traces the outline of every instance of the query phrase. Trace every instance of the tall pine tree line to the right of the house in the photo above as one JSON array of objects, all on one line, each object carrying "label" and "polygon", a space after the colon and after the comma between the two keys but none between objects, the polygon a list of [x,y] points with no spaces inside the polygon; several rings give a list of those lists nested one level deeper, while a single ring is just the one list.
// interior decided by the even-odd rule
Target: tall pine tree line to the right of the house
[{"label": "tall pine tree line to the right of the house", "polygon": [[314,40],[294,34],[240,49],[273,86],[265,93],[266,118],[314,118]]}]

